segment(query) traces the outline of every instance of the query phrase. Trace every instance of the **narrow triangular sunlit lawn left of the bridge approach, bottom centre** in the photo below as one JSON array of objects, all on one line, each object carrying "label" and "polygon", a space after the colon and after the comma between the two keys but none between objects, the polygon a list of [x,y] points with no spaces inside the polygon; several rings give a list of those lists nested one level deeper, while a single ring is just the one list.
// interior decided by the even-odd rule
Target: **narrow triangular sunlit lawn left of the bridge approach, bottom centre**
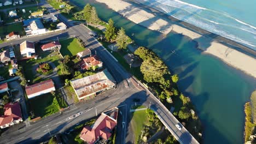
[{"label": "narrow triangular sunlit lawn left of the bridge approach, bottom centre", "polygon": [[144,123],[148,121],[146,110],[135,111],[131,113],[131,126],[133,134],[135,135],[135,143],[138,142],[139,136],[141,136],[141,130],[143,130]]}]

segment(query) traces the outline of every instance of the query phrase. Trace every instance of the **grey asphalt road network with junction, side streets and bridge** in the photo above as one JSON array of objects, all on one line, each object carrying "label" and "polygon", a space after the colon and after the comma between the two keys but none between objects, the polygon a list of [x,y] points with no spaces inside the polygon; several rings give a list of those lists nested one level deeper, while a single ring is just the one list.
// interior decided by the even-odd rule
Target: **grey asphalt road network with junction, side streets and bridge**
[{"label": "grey asphalt road network with junction, side streets and bridge", "polygon": [[[44,5],[44,7],[49,7],[49,4]],[[49,7],[49,9],[51,9]],[[110,55],[110,53],[104,49],[104,47],[98,43],[95,38],[92,38],[88,32],[90,31],[83,25],[74,26],[72,22],[68,21],[65,17],[59,14],[57,11],[52,11],[54,14],[69,27],[69,30],[61,34],[50,34],[50,35],[40,35],[33,38],[25,38],[31,41],[45,40],[45,39],[56,39],[56,37],[68,37],[71,35],[76,35],[80,39],[88,44],[88,48],[92,52],[97,53],[103,61],[104,67],[108,68],[109,72],[113,75],[114,79],[117,81],[117,88],[112,89],[98,97],[91,99],[86,102],[81,102],[78,105],[71,106],[69,110],[63,113],[56,113],[52,116],[41,119],[38,122],[31,123],[30,126],[24,127],[22,124],[14,125],[13,127],[21,127],[18,130],[11,131],[10,133],[3,133],[0,137],[0,143],[38,143],[49,139],[50,135],[55,135],[57,133],[62,133],[65,130],[71,128],[73,125],[86,121],[91,117],[96,116],[102,111],[111,109],[112,107],[119,106],[120,114],[118,119],[118,133],[117,133],[117,143],[129,143],[131,142],[130,137],[127,136],[127,115],[130,109],[130,105],[133,104],[133,99],[140,99],[140,103],[149,106],[155,111],[159,116],[160,120],[164,125],[171,131],[171,133],[176,137],[176,139],[181,143],[197,143],[197,141],[189,134],[189,132],[182,128],[178,130],[175,124],[179,123],[177,119],[171,114],[170,111],[166,109],[164,105],[160,103],[154,95],[150,94],[144,89],[138,89],[133,86],[131,82],[131,76],[124,70],[123,67],[116,61],[116,59]],[[9,43],[0,44],[0,47],[4,47],[13,44],[20,44],[22,40],[15,40]],[[127,87],[127,85],[129,87]],[[136,84],[137,86],[137,84]],[[83,112],[82,115],[69,119],[75,115],[75,113]]]}]

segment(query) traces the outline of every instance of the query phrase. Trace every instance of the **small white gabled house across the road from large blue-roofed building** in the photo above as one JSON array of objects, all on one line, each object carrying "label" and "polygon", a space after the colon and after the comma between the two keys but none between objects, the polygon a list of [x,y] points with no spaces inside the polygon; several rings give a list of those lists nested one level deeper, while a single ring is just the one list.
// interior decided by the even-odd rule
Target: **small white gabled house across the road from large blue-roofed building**
[{"label": "small white gabled house across the road from large blue-roofed building", "polygon": [[34,51],[34,43],[31,41],[24,41],[20,44],[20,53],[23,57],[31,57]]}]

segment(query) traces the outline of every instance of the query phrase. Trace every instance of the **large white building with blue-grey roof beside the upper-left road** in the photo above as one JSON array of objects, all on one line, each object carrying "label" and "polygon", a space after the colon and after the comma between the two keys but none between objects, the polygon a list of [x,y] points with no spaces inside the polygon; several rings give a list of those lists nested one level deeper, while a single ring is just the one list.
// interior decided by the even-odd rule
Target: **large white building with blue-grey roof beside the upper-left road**
[{"label": "large white building with blue-grey roof beside the upper-left road", "polygon": [[42,21],[34,20],[30,22],[30,25],[25,28],[25,32],[27,35],[38,35],[46,33],[46,29]]}]

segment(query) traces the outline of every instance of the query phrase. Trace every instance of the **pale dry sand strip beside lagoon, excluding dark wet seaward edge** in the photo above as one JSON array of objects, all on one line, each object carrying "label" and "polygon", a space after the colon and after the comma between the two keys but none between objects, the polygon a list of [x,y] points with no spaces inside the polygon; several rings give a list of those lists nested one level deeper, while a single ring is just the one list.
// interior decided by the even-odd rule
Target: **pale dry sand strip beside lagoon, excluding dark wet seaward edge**
[{"label": "pale dry sand strip beside lagoon, excluding dark wet seaward edge", "polygon": [[[152,29],[163,34],[170,32],[181,33],[195,41],[197,41],[198,48],[203,50],[205,53],[209,53],[222,59],[225,63],[244,71],[245,73],[256,78],[256,59],[248,56],[243,52],[236,49],[232,49],[220,43],[218,40],[211,37],[205,37],[203,34],[195,31],[191,31],[189,28],[179,25],[179,23],[162,19],[161,16],[149,13],[147,10],[136,7],[132,3],[121,1],[121,0],[96,0],[100,3],[105,3],[110,9],[117,11],[127,19]],[[206,44],[207,43],[207,44]]]}]

